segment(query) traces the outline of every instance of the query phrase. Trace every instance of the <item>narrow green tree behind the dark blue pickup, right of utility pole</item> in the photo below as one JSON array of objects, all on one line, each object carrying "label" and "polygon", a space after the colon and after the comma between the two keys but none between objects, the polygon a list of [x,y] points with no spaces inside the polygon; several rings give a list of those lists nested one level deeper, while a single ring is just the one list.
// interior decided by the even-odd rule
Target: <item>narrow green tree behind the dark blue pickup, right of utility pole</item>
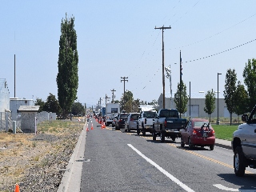
[{"label": "narrow green tree behind the dark blue pickup, right of utility pole", "polygon": [[[180,88],[181,88],[181,93],[180,93]],[[181,105],[180,105],[180,98],[181,98]],[[176,104],[176,108],[180,114],[186,113],[186,105],[188,102],[189,98],[187,97],[186,94],[186,85],[183,83],[183,81],[178,83],[177,91],[174,94],[174,102]]]}]

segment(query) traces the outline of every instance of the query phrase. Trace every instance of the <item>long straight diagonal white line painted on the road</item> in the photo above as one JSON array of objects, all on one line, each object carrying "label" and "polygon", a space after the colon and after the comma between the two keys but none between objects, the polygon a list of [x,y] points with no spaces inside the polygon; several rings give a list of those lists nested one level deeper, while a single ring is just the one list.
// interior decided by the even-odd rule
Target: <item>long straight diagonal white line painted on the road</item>
[{"label": "long straight diagonal white line painted on the road", "polygon": [[152,166],[156,167],[158,170],[160,170],[162,172],[162,174],[165,174],[168,178],[170,178],[170,180],[172,180],[173,182],[176,182],[176,184],[178,186],[181,186],[184,190],[188,191],[188,192],[194,192],[194,190],[190,189],[190,187],[186,186],[184,183],[180,182],[178,180],[178,178],[174,178],[173,175],[169,174],[166,170],[162,169],[161,166],[158,166],[158,164],[156,164],[155,162],[153,162],[150,158],[147,158],[144,154],[142,154],[142,152],[140,152],[139,150],[137,150],[134,146],[132,146],[131,144],[127,144],[128,146],[130,146],[130,148],[132,148],[133,150],[135,150],[137,152],[137,154],[139,154],[140,156],[142,156],[142,158],[146,159],[147,162],[149,162]]}]

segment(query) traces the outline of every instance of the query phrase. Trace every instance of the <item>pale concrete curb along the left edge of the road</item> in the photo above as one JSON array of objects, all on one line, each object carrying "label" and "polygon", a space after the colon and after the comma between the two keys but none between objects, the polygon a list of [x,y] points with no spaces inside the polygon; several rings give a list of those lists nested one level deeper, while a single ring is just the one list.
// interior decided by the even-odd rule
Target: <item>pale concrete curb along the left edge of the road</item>
[{"label": "pale concrete curb along the left edge of the road", "polygon": [[87,122],[83,126],[82,132],[78,138],[77,145],[70,157],[70,162],[66,166],[62,182],[58,186],[58,192],[80,192],[82,164],[84,162],[84,151],[86,149],[86,127]]}]

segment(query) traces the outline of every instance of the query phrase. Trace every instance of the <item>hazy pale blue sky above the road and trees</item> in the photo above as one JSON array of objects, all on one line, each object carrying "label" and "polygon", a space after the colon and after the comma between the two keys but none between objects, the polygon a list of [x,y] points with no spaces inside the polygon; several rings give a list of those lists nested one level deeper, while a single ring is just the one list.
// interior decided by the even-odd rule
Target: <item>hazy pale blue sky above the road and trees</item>
[{"label": "hazy pale blue sky above the road and trees", "polygon": [[[128,77],[126,90],[134,99],[158,100],[162,93],[162,30],[155,26],[171,26],[164,31],[164,45],[173,92],[179,82],[180,50],[182,79],[187,91],[191,83],[191,92],[217,90],[218,73],[222,74],[218,89],[223,92],[228,69],[236,70],[243,83],[242,71],[248,59],[256,56],[256,1],[0,3],[0,78],[6,78],[10,97],[14,97],[15,54],[16,97],[46,100],[51,93],[58,98],[58,41],[66,14],[74,16],[78,35],[78,101],[94,106],[99,98],[111,97],[112,89],[115,99],[122,97],[121,77]],[[166,78],[167,91],[170,83]]]}]

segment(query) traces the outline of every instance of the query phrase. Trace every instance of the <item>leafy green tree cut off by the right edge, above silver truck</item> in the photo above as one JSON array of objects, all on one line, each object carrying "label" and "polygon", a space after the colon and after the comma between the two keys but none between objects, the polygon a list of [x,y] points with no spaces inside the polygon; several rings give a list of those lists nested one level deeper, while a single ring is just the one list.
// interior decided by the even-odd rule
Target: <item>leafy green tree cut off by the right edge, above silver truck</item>
[{"label": "leafy green tree cut off by the right edge, above silver truck", "polygon": [[248,110],[251,111],[256,104],[256,60],[253,58],[252,60],[248,59],[248,63],[246,64],[242,76],[244,78],[244,83],[247,86],[248,93]]}]

